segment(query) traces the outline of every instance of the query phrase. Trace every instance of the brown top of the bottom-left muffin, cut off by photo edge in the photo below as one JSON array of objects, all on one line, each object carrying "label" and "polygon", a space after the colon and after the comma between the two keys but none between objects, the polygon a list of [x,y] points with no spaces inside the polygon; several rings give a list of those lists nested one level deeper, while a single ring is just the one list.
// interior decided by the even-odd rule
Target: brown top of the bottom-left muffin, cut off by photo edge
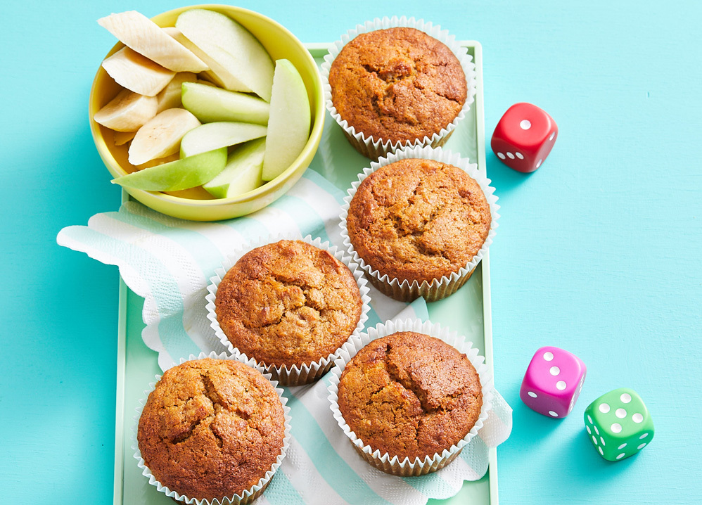
[{"label": "brown top of the bottom-left muffin, cut off by photo edge", "polygon": [[187,497],[241,494],[283,447],[283,406],[259,371],[229,359],[168,369],[148,395],[137,440],[162,485]]}]

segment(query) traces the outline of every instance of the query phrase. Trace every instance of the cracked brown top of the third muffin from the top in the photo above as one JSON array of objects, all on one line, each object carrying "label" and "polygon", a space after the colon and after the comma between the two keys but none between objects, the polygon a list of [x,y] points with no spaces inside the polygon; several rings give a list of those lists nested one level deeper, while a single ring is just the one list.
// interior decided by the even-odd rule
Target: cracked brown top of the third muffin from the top
[{"label": "cracked brown top of the third muffin from the top", "polygon": [[356,329],[363,302],[345,264],[314,245],[283,240],[243,255],[219,283],[215,307],[234,347],[289,367],[335,352]]}]

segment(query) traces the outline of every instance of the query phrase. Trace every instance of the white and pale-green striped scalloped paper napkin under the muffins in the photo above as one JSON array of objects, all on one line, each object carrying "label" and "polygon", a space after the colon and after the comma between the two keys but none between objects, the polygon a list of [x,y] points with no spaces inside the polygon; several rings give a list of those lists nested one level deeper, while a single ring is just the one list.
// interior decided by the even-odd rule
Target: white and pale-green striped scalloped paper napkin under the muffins
[{"label": "white and pale-green striped scalloped paper napkin under the muffins", "polygon": [[[68,226],[57,242],[119,267],[127,286],[144,298],[142,337],[166,370],[181,357],[226,351],[210,328],[205,295],[229,250],[290,230],[343,248],[341,205],[343,192],[309,169],[286,195],[246,217],[190,222],[129,201],[118,212],[94,215],[88,226]],[[407,305],[372,287],[369,294],[366,327],[397,318],[428,319],[421,298]],[[511,408],[495,392],[485,426],[454,463],[423,477],[386,475],[366,464],[338,427],[329,408],[328,385],[327,374],[312,385],[286,388],[291,447],[259,499],[262,503],[423,505],[429,498],[448,498],[464,480],[485,475],[488,447],[504,442],[511,430]]]}]

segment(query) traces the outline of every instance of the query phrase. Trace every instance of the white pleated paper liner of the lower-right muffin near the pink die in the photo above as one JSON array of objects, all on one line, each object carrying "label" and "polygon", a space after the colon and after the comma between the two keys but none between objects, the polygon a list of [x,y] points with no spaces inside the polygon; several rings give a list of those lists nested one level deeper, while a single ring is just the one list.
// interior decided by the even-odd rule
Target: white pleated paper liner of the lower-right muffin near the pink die
[{"label": "white pleated paper liner of the lower-right muffin near the pink die", "polygon": [[[352,357],[354,357],[357,352],[362,349],[362,347],[370,343],[372,340],[376,340],[377,338],[385,337],[387,335],[392,335],[398,331],[414,331],[415,333],[423,333],[424,335],[439,338],[440,340],[443,340],[445,343],[459,350],[459,352],[466,354],[471,364],[473,364],[473,366],[476,367],[476,371],[478,371],[480,386],[483,391],[483,406],[480,408],[478,421],[476,421],[476,424],[473,426],[473,428],[471,428],[468,434],[459,440],[457,444],[444,449],[440,453],[428,455],[424,459],[416,458],[411,460],[407,457],[400,459],[398,456],[393,456],[387,452],[381,454],[380,450],[373,449],[370,445],[364,444],[364,442],[356,436],[356,434],[344,420],[343,415],[339,410],[339,380],[347,363],[351,361]],[[340,354],[338,359],[336,359],[329,376],[330,385],[328,387],[328,399],[331,404],[331,411],[333,412],[333,416],[338,422],[339,427],[352,442],[354,447],[357,449],[357,452],[359,452],[359,454],[369,464],[375,466],[379,470],[384,471],[385,473],[391,473],[393,475],[426,475],[427,473],[435,472],[449,464],[460,454],[461,449],[466,447],[468,442],[470,442],[473,437],[478,435],[478,431],[483,428],[483,425],[487,420],[487,414],[492,408],[494,386],[492,384],[490,369],[485,364],[485,358],[478,355],[478,349],[473,347],[471,342],[466,342],[466,338],[464,336],[457,335],[455,331],[450,331],[449,328],[442,328],[439,324],[432,324],[430,321],[405,319],[401,321],[387,321],[376,325],[375,328],[367,328],[367,331],[354,338],[350,342],[350,345]]]}]

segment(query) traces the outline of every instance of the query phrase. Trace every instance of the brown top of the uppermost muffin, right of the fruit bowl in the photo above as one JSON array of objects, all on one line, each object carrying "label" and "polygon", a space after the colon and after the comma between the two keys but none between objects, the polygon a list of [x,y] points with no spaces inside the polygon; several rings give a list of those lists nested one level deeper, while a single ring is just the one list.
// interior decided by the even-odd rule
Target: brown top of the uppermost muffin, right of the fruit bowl
[{"label": "brown top of the uppermost muffin, right of the fruit bowl", "polygon": [[357,132],[414,141],[448,126],[466,102],[466,75],[442,42],[414,28],[359,34],[329,70],[331,101]]}]

